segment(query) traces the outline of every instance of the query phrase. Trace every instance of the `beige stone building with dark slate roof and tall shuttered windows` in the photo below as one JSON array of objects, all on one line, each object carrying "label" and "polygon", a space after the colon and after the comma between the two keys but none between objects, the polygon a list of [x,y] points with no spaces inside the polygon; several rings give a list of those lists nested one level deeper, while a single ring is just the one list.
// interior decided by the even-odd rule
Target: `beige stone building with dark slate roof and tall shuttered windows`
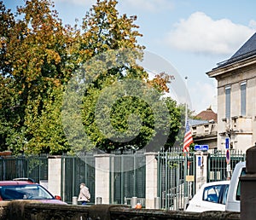
[{"label": "beige stone building with dark slate roof and tall shuttered windows", "polygon": [[207,75],[218,81],[218,150],[230,138],[245,152],[256,142],[256,33]]}]

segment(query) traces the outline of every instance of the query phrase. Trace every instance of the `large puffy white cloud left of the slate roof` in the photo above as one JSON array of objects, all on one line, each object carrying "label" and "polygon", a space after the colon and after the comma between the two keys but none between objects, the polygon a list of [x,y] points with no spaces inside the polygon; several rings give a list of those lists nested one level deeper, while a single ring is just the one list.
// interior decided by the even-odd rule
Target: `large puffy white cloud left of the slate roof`
[{"label": "large puffy white cloud left of the slate roof", "polygon": [[167,35],[166,43],[195,53],[228,55],[253,35],[256,21],[251,20],[249,26],[238,25],[228,19],[212,20],[207,14],[195,12],[187,20],[175,24]]}]

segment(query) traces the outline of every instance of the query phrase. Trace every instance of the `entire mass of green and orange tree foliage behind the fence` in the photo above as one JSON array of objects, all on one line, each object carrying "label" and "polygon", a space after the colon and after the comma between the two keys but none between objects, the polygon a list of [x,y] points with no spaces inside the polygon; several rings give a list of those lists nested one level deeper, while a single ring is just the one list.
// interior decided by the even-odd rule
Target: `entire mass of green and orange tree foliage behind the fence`
[{"label": "entire mass of green and orange tree foliage behind the fence", "polygon": [[142,34],[117,3],[96,1],[79,29],[63,26],[49,0],[26,1],[16,17],[0,2],[0,150],[172,148],[181,108],[162,95],[173,78],[149,80],[137,66]]}]

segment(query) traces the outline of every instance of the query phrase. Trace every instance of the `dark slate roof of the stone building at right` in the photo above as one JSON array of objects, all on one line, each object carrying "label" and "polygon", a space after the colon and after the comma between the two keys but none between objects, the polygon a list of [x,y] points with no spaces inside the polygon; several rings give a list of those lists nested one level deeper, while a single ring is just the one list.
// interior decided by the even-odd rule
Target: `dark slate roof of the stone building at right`
[{"label": "dark slate roof of the stone building at right", "polygon": [[251,38],[244,43],[240,49],[236,51],[234,55],[230,57],[229,60],[218,63],[218,67],[224,67],[236,61],[244,60],[248,57],[256,55],[256,32]]}]

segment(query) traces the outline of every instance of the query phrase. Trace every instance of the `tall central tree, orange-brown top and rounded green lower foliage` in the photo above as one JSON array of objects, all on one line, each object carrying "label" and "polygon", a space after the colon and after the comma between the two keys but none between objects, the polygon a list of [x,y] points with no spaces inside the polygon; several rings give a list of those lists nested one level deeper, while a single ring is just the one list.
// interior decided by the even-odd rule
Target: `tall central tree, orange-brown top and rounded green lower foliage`
[{"label": "tall central tree, orange-brown top and rounded green lower foliage", "polygon": [[[167,124],[170,123],[169,115],[164,114],[167,109],[164,109],[161,95],[163,91],[168,91],[166,84],[172,78],[161,72],[150,81],[148,73],[136,65],[135,61],[143,57],[144,47],[137,44],[137,37],[142,35],[136,30],[138,26],[133,24],[136,17],[128,18],[126,14],[119,16],[116,4],[117,1],[97,1],[83,21],[79,61],[85,63],[84,81],[90,82],[84,91],[82,105],[84,130],[90,142],[106,152],[114,149],[139,149],[146,145],[159,148],[164,144],[161,142],[164,140],[162,137],[169,134]],[[133,79],[132,84],[129,85],[127,79]],[[116,87],[117,84],[119,86]],[[130,93],[131,90],[136,92]],[[68,96],[70,98],[73,95]],[[119,98],[115,99],[116,96]],[[99,103],[101,107],[97,107]],[[163,114],[156,114],[151,103],[162,106],[160,112]],[[77,119],[78,114],[73,113],[76,116],[74,118]],[[80,126],[75,124],[75,127]],[[162,131],[163,128],[166,129],[160,135],[160,131],[156,130]],[[69,127],[68,130],[74,129]],[[77,135],[72,132],[69,135],[78,144],[81,133],[79,130]],[[83,149],[81,145],[83,142],[79,142],[76,148]]]}]

